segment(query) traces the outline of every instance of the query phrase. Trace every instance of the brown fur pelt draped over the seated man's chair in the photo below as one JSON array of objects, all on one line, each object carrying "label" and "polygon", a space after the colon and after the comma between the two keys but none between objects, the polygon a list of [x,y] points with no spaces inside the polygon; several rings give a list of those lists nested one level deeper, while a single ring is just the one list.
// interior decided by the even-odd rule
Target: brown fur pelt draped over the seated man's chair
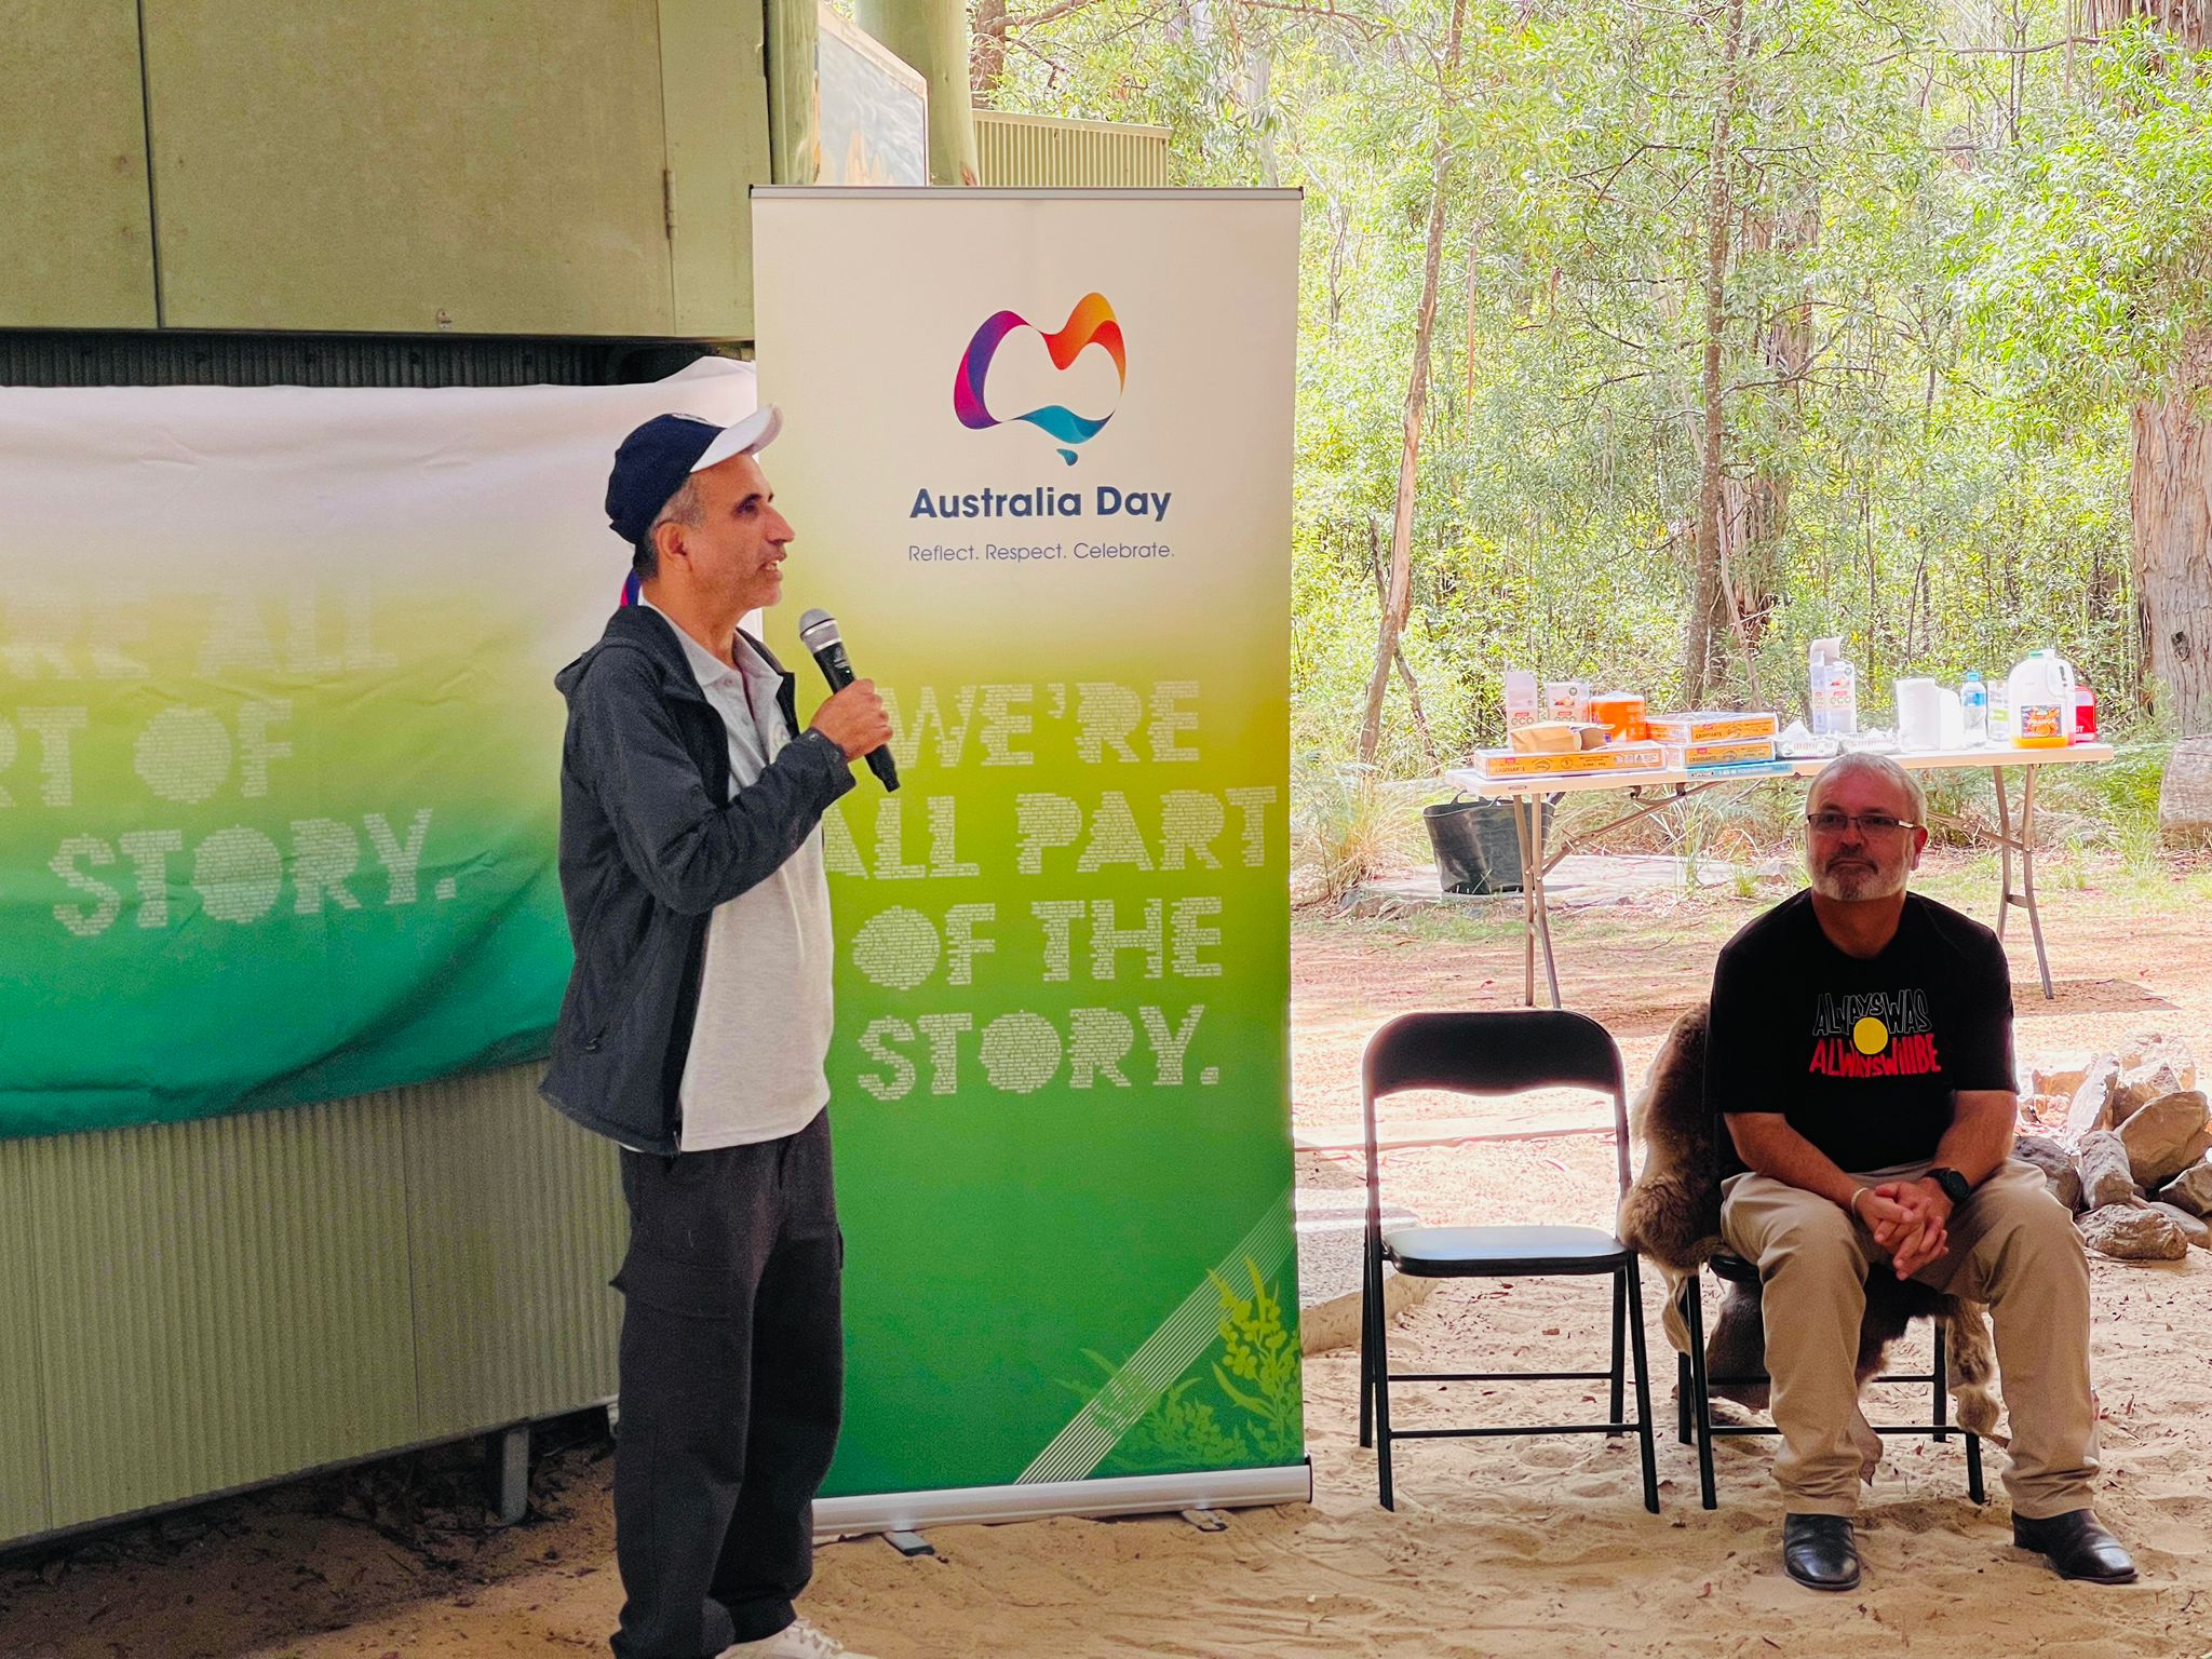
[{"label": "brown fur pelt draped over the seated man's chair", "polygon": [[[1719,1124],[1705,1110],[1705,1004],[1681,1015],[1630,1106],[1630,1137],[1641,1144],[1641,1175],[1621,1199],[1619,1239],[1666,1276],[1666,1332],[1688,1352],[1690,1332],[1681,1321],[1681,1287],[1697,1279],[1705,1259],[1721,1248],[1721,1159]],[[1765,1325],[1759,1287],[1725,1283],[1719,1318],[1705,1340],[1712,1376],[1765,1378]],[[1991,1385],[1995,1356],[1989,1316],[1980,1303],[1944,1296],[1896,1274],[1867,1276],[1867,1314],[1858,1329],[1858,1380],[1882,1369],[1882,1354],[1905,1325],[1927,1314],[1944,1321],[1949,1385],[1958,1422],[1975,1433],[1997,1427],[1997,1394]],[[1752,1407],[1767,1405],[1767,1385],[1714,1385],[1714,1394]]]}]

